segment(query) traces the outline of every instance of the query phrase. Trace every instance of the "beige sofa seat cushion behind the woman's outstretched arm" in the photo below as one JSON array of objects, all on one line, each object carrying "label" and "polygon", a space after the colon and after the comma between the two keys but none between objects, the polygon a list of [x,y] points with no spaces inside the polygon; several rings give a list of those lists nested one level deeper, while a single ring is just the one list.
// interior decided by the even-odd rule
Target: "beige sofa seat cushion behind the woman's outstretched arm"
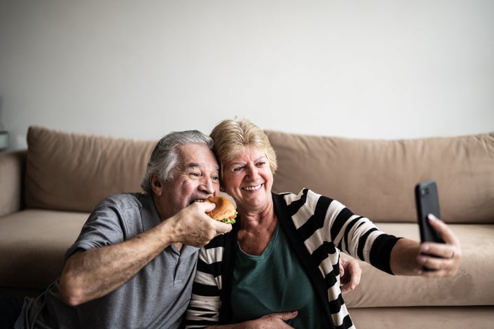
[{"label": "beige sofa seat cushion behind the woman's outstretched arm", "polygon": [[[414,223],[378,226],[396,236],[419,239],[419,228]],[[450,228],[462,245],[456,276],[392,276],[360,262],[360,285],[343,295],[349,307],[494,305],[494,276],[489,274],[494,272],[494,225],[451,224]]]}]

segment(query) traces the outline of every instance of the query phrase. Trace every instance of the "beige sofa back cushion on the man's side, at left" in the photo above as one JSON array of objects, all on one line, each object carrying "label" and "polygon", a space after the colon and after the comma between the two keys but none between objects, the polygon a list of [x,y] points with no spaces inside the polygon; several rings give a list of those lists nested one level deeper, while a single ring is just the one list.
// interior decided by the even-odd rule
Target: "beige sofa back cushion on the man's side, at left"
[{"label": "beige sofa back cushion on the man's side, at left", "polygon": [[30,127],[27,131],[27,208],[90,212],[107,195],[141,191],[156,141]]}]

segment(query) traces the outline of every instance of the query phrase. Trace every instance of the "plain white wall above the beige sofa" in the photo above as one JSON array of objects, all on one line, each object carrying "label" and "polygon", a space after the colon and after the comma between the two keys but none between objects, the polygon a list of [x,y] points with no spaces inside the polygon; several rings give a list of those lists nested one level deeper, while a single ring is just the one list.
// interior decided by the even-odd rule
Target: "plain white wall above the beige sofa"
[{"label": "plain white wall above the beige sofa", "polygon": [[158,139],[225,118],[362,138],[494,130],[494,1],[0,0],[0,122]]}]

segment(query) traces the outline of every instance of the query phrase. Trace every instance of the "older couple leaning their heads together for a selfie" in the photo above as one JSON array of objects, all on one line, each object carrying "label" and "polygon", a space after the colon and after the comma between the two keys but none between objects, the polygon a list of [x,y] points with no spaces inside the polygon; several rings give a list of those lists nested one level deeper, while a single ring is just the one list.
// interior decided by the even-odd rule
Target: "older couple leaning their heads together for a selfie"
[{"label": "older couple leaning their heads together for a selfie", "polygon": [[[25,299],[15,328],[353,328],[342,292],[360,267],[338,247],[392,274],[458,271],[460,245],[443,221],[430,219],[445,244],[398,239],[316,191],[272,193],[276,169],[266,134],[246,119],[211,137],[167,134],[144,193],[96,206],[60,278]],[[197,202],[220,185],[237,206],[233,226]]]}]

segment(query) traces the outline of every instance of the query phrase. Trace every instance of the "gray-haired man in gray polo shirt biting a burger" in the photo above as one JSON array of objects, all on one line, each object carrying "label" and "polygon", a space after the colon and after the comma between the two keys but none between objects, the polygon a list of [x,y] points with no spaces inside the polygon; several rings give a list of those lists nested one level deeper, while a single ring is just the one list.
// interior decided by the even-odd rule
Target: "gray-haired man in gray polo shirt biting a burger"
[{"label": "gray-haired man in gray polo shirt biting a burger", "polygon": [[15,328],[181,328],[198,247],[231,225],[196,202],[220,191],[211,138],[172,132],[158,142],[145,193],[104,199],[67,251],[59,280],[25,300]]}]

